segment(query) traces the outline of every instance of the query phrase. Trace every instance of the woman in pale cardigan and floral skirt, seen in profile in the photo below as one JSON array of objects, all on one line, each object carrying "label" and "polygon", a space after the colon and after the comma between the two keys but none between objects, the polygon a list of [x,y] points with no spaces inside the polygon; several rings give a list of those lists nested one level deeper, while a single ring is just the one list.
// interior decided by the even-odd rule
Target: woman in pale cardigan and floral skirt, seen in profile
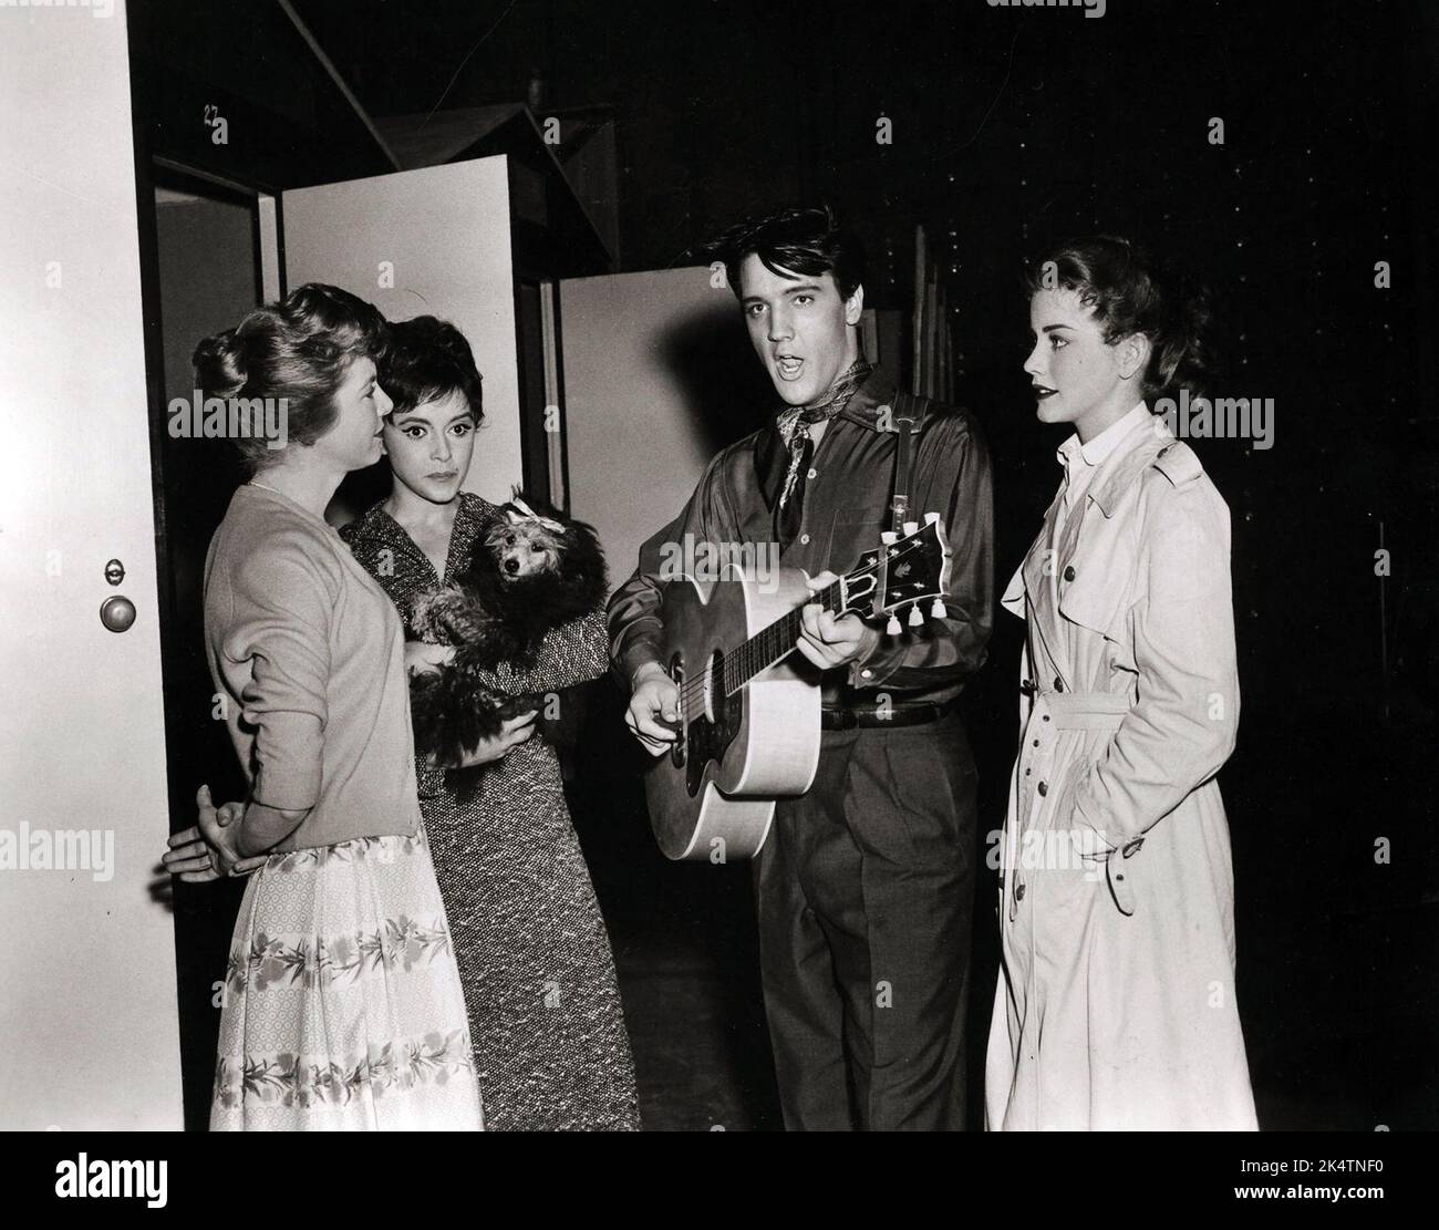
[{"label": "woman in pale cardigan and floral skirt, seen in profile", "polygon": [[[288,439],[210,542],[206,652],[250,785],[171,839],[250,876],[224,978],[212,1129],[479,1129],[465,997],[420,823],[400,620],[324,521],[380,457],[387,327],[308,285],[196,348],[210,396],[283,398]],[[207,794],[206,794],[207,798]]]}]

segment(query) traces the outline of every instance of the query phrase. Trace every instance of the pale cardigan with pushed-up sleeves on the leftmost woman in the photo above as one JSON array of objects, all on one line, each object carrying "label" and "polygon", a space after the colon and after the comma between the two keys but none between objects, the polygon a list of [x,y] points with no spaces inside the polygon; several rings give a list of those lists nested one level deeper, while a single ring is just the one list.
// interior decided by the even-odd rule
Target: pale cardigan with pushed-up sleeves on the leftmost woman
[{"label": "pale cardigan with pushed-up sleeves on the leftmost woman", "polygon": [[324,519],[240,486],[206,555],[204,639],[250,797],[311,808],[276,852],[417,832],[400,620]]}]

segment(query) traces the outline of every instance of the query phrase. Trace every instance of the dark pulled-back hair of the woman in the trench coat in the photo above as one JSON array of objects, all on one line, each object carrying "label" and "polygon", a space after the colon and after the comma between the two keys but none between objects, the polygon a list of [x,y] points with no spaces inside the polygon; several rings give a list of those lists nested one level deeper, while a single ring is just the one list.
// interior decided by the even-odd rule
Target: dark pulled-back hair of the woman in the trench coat
[{"label": "dark pulled-back hair of the woman in the trench coat", "polygon": [[1107,342],[1144,334],[1150,361],[1141,384],[1151,401],[1181,387],[1199,396],[1213,377],[1209,292],[1161,266],[1138,243],[1112,234],[1061,243],[1025,270],[1025,286],[1030,295],[1075,291]]}]

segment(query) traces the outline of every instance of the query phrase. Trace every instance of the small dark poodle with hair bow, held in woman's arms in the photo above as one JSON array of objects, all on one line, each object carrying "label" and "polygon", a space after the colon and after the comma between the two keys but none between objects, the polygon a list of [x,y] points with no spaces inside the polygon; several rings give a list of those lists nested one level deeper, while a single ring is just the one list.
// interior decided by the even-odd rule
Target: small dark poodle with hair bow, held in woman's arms
[{"label": "small dark poodle with hair bow, held in woman's arms", "polygon": [[453,586],[419,594],[410,624],[422,640],[456,646],[439,670],[410,679],[414,745],[453,764],[543,698],[514,696],[484,678],[499,663],[532,666],[545,634],[599,607],[609,593],[594,528],[535,512],[517,491],[475,544]]}]

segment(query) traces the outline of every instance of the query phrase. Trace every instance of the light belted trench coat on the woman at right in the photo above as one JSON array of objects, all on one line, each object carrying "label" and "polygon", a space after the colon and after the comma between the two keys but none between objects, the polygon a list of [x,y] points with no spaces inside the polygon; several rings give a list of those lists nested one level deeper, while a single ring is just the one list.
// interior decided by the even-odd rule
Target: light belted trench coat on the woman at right
[{"label": "light belted trench coat on the woman at right", "polygon": [[1229,509],[1160,419],[1062,501],[1002,598],[1027,643],[987,1126],[1253,1129],[1215,780],[1239,725]]}]

